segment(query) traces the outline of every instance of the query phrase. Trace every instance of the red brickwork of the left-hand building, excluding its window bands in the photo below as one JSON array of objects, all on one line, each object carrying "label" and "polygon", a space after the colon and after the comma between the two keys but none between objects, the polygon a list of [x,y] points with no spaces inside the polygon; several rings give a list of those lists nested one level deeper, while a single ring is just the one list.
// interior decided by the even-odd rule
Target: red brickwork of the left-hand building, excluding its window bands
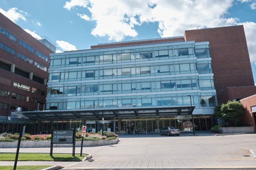
[{"label": "red brickwork of the left-hand building, excluding its window bands", "polygon": [[[15,56],[13,56],[12,54],[7,53],[5,50],[0,49],[0,61],[8,65],[11,65],[12,63],[14,63],[15,67],[19,70],[25,71],[26,73],[33,73],[35,76],[38,76],[41,79],[48,79],[48,73],[46,71],[40,70],[37,67],[35,67],[34,62],[37,62],[40,65],[43,65],[44,67],[47,67],[47,69],[49,67],[49,62],[38,57],[35,53],[36,53],[36,50],[38,50],[40,53],[44,54],[44,56],[49,58],[49,54],[53,52],[49,50],[46,46],[44,46],[41,42],[39,42],[34,37],[32,37],[30,34],[28,34],[26,31],[24,31],[22,28],[20,28],[18,25],[11,22],[10,19],[6,18],[6,16],[4,16],[1,13],[0,13],[0,27],[2,27],[3,29],[6,29],[8,32],[12,33],[14,36],[17,37],[17,41],[15,42],[9,39],[8,37],[6,37],[5,35],[2,35],[2,33],[0,33],[0,42],[2,42],[3,44],[15,50]],[[22,40],[26,42],[26,44],[32,46],[32,48],[35,49],[34,53],[23,48],[23,46],[20,46],[19,40]],[[24,56],[31,58],[34,61],[33,65],[18,58],[17,57],[18,52],[22,53]],[[24,78],[23,76],[19,76],[17,74],[11,73],[10,71],[3,70],[3,69],[0,69],[0,80],[4,80],[4,82],[0,81],[0,89],[10,92],[9,97],[0,96],[0,103],[7,103],[9,105],[27,107],[28,110],[30,108],[32,109],[37,108],[38,105],[36,103],[31,103],[30,101],[27,102],[27,101],[12,99],[11,95],[13,92],[16,94],[24,95],[24,96],[29,96],[30,99],[31,97],[34,97],[36,99],[40,99],[43,101],[46,100],[47,87],[44,86],[43,84],[37,83],[28,78]],[[22,84],[26,84],[27,86],[30,86],[30,92],[13,87],[14,82],[19,82]],[[35,87],[35,88],[38,88],[39,90],[44,91],[45,95],[43,96],[40,94],[32,93],[31,92],[32,87]],[[40,110],[43,109],[42,104],[40,105],[39,109]],[[6,116],[9,113],[10,113],[10,110],[3,110],[3,109],[0,110],[0,116]]]}]

